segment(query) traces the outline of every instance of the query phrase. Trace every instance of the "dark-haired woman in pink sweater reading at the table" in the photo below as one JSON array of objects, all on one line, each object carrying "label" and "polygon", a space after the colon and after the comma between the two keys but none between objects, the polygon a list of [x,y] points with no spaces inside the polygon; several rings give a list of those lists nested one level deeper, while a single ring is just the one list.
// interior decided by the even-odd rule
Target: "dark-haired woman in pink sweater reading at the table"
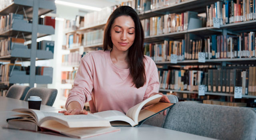
[{"label": "dark-haired woman in pink sweater reading at the table", "polygon": [[[108,18],[103,50],[86,54],[66,101],[65,115],[118,110],[123,113],[153,96],[159,89],[154,61],[143,55],[144,32],[137,13],[120,6]],[[108,47],[111,50],[108,50]],[[163,96],[160,102],[170,102]]]}]

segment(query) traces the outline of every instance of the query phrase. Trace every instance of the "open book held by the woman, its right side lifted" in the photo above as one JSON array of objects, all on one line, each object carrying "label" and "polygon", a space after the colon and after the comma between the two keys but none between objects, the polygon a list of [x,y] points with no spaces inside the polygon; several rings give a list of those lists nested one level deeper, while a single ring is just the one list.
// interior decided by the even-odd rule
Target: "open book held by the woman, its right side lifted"
[{"label": "open book held by the woman, its right side lifted", "polygon": [[126,115],[116,110],[108,110],[94,114],[110,121],[112,126],[140,126],[148,118],[170,108],[173,105],[172,103],[159,102],[161,98],[162,95],[160,94],[151,96],[130,108],[126,112]]}]

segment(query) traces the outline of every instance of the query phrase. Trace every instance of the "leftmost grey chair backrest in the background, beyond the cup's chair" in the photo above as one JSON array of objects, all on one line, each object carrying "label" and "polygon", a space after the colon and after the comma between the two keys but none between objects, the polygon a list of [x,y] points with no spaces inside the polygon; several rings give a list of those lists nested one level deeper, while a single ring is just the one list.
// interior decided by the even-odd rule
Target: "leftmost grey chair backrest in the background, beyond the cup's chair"
[{"label": "leftmost grey chair backrest in the background, beyond the cup's chair", "polygon": [[29,86],[12,85],[6,93],[6,97],[23,100],[29,89]]}]

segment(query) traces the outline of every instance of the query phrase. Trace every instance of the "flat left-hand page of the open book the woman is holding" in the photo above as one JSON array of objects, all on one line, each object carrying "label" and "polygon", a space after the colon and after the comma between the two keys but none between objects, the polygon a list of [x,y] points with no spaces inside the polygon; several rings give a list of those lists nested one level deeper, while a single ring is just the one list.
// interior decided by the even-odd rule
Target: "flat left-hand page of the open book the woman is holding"
[{"label": "flat left-hand page of the open book the woman is holding", "polygon": [[[131,126],[134,126],[135,123],[134,121],[129,118],[128,116],[126,116],[124,113],[120,112],[120,111],[117,111],[117,110],[108,110],[108,111],[102,111],[102,112],[97,112],[97,113],[94,113],[95,115],[98,115],[98,116],[101,116],[102,118],[110,121],[110,123],[112,121],[124,121],[124,122],[127,122],[129,123]],[[112,123],[112,124],[115,124],[116,123]],[[119,126],[123,126],[122,125],[123,123],[120,123]],[[127,125],[127,124],[126,124]],[[113,125],[112,125],[113,126]]]}]

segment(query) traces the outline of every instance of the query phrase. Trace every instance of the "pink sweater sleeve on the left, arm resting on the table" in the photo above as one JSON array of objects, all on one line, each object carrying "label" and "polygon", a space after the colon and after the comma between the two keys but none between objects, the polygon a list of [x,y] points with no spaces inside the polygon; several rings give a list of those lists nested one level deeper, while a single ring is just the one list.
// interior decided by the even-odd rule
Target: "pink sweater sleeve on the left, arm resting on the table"
[{"label": "pink sweater sleeve on the left, arm resting on the table", "polygon": [[93,89],[93,66],[90,60],[90,53],[86,54],[80,62],[80,66],[76,73],[74,79],[74,86],[68,94],[68,99],[66,101],[66,109],[68,104],[72,101],[77,101],[84,108],[84,103],[92,99],[92,89]]}]

